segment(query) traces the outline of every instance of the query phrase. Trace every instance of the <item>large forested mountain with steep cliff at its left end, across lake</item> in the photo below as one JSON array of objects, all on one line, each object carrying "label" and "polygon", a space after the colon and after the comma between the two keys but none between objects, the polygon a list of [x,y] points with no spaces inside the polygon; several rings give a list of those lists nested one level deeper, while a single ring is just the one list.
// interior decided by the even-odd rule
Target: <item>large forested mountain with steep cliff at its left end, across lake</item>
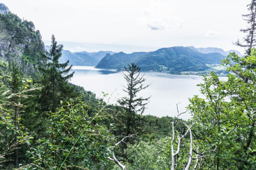
[{"label": "large forested mountain with steep cliff at its left end, across lake", "polygon": [[122,69],[125,65],[134,62],[143,71],[205,71],[210,69],[206,64],[220,64],[225,57],[217,52],[202,53],[187,47],[170,47],[151,52],[106,54],[96,68]]}]

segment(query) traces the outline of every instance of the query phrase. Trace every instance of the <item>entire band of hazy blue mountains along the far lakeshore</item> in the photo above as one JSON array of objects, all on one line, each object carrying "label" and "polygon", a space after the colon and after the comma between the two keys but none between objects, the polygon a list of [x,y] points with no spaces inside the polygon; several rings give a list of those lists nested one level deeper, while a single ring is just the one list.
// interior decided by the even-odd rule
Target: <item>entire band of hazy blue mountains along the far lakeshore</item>
[{"label": "entire band of hazy blue mountains along the far lakeshore", "polygon": [[[49,46],[45,46],[49,49]],[[220,48],[195,48],[190,47],[170,47],[161,48],[150,52],[133,52],[130,54],[124,52],[98,51],[98,52],[70,52],[62,51],[60,62],[69,60],[69,64],[78,66],[96,66],[102,69],[120,69],[129,63],[136,63],[143,71],[206,71],[210,69],[207,64],[220,64],[229,52]]]}]

